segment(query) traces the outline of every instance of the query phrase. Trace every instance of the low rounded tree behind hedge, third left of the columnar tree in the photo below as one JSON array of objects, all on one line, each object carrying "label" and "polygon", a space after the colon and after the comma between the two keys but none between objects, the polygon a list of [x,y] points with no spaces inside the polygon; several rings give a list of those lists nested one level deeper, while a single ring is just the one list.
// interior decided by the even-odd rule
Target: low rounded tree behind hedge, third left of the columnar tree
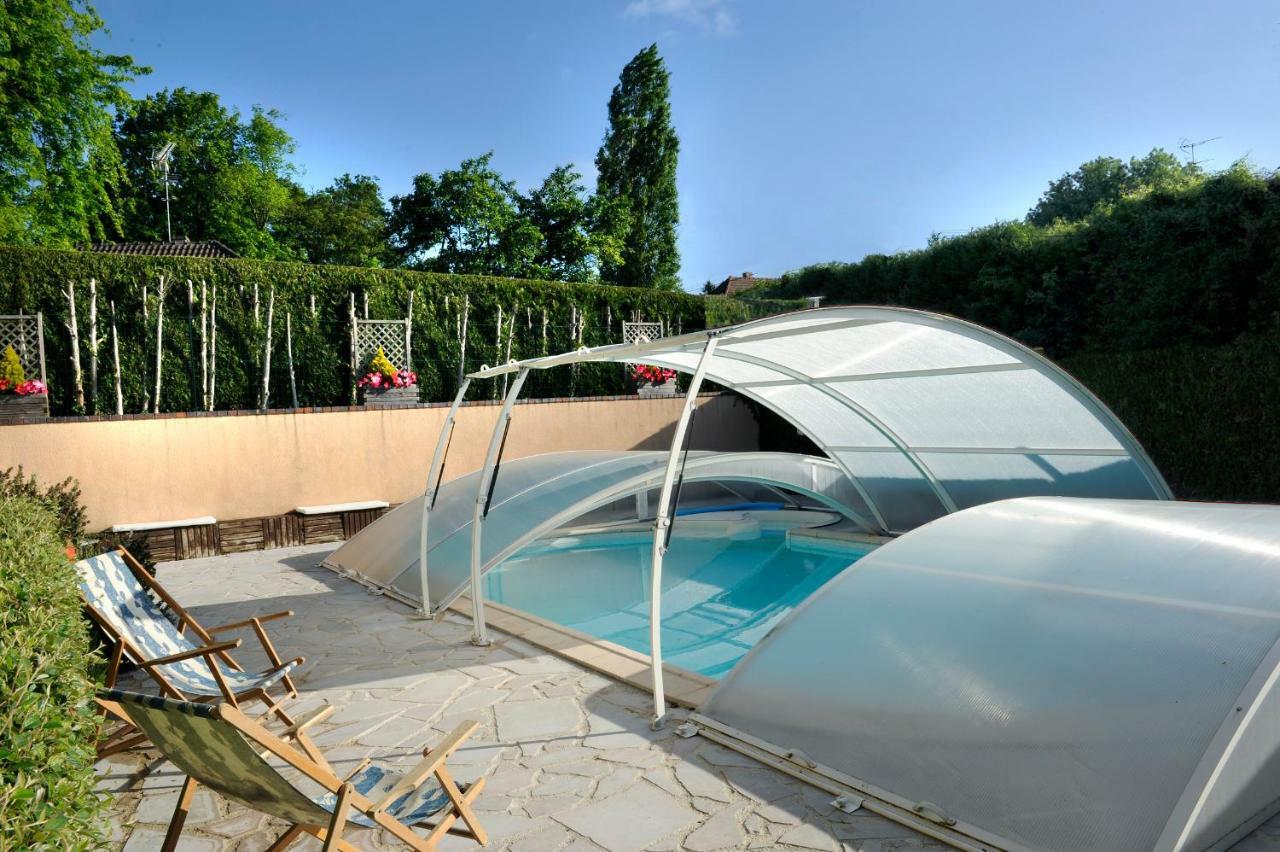
[{"label": "low rounded tree behind hedge, third left of the columnar tree", "polygon": [[312,264],[387,266],[387,205],[378,179],[344,174],[308,196],[294,191],[280,238]]}]

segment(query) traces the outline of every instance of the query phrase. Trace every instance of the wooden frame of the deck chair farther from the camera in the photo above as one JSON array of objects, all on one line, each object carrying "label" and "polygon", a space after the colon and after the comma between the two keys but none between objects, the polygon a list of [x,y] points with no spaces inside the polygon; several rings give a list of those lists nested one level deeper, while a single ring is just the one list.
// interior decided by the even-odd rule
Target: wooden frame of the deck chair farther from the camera
[{"label": "wooden frame of the deck chair farther from the camera", "polygon": [[[259,642],[262,645],[262,651],[266,652],[266,659],[271,661],[271,668],[262,672],[264,675],[279,672],[285,665],[302,665],[306,661],[305,656],[296,656],[292,660],[282,660],[280,655],[276,652],[275,646],[271,643],[270,637],[266,635],[266,628],[262,627],[265,622],[274,622],[282,618],[288,618],[293,615],[292,609],[287,609],[279,613],[270,613],[268,615],[257,615],[255,618],[246,618],[238,622],[230,622],[229,624],[221,624],[219,627],[205,628],[196,620],[195,615],[187,611],[187,609],[179,604],[169,591],[156,582],[156,578],[147,572],[142,564],[133,558],[124,548],[118,550],[124,564],[128,565],[129,571],[138,580],[140,583],[151,592],[155,594],[164,604],[178,617],[178,632],[186,633],[187,628],[200,638],[204,645],[183,651],[180,654],[173,654],[170,656],[161,656],[156,659],[147,659],[133,642],[127,637],[122,636],[110,622],[108,622],[93,606],[83,591],[81,591],[81,600],[84,603],[84,611],[88,613],[90,618],[97,624],[102,633],[111,641],[111,655],[108,659],[106,665],[106,678],[105,686],[111,688],[115,686],[115,681],[119,677],[120,663],[125,655],[141,669],[143,669],[151,678],[160,684],[161,695],[177,698],[179,701],[193,701],[206,704],[210,701],[225,701],[232,707],[239,707],[241,702],[244,701],[261,701],[266,705],[262,715],[274,714],[285,725],[292,725],[293,719],[284,711],[283,704],[287,698],[298,697],[298,687],[293,683],[293,678],[285,674],[280,678],[280,683],[285,690],[284,697],[276,700],[265,688],[251,688],[243,690],[241,692],[234,692],[223,677],[221,670],[215,665],[214,660],[219,659],[230,667],[236,672],[243,672],[244,669],[232,658],[230,651],[241,646],[241,640],[232,641],[215,641],[214,636],[219,633],[229,633],[230,631],[243,629],[251,627],[257,636]],[[166,663],[179,663],[182,660],[189,660],[193,658],[200,658],[205,660],[209,665],[209,670],[212,674],[214,681],[218,683],[219,696],[195,696],[187,695],[177,686],[173,684],[169,678],[164,675],[164,672],[159,667]],[[136,746],[140,746],[147,741],[147,737],[137,730],[128,718],[122,718],[120,722],[124,724],[110,732],[101,739],[97,745],[97,759],[101,760],[109,755],[114,755],[120,751],[127,751]]]}]

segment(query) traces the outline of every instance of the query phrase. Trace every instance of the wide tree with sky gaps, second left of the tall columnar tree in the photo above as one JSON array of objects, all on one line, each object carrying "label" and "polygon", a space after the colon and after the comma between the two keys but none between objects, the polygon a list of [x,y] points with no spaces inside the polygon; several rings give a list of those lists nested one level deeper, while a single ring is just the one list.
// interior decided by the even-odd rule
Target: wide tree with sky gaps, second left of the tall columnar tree
[{"label": "wide tree with sky gaps, second left of the tall columnar tree", "polygon": [[520,214],[516,184],[490,165],[493,151],[392,198],[392,243],[415,269],[531,278],[541,234]]}]

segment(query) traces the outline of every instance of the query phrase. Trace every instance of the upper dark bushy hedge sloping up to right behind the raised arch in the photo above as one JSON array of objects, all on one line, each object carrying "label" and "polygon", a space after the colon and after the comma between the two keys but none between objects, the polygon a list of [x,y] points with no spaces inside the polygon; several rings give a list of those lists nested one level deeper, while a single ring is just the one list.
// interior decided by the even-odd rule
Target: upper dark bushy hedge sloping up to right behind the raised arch
[{"label": "upper dark bushy hedge sloping up to right behind the raised arch", "polygon": [[918,251],[809,266],[751,292],[941,311],[1056,358],[1219,345],[1280,322],[1280,174],[1236,165],[1078,223],[997,223]]}]

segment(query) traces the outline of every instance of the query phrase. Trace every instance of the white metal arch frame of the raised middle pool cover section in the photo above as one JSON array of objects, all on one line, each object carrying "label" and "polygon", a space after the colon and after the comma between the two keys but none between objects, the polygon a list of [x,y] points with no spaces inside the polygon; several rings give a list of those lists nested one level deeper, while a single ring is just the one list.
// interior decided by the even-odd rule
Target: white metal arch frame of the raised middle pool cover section
[{"label": "white metal arch frame of the raised middle pool cover section", "polygon": [[[806,322],[808,321],[808,322]],[[932,329],[941,331],[943,335],[954,335],[968,340],[970,343],[977,343],[989,351],[987,361],[978,363],[964,362],[965,357],[959,352],[954,354],[954,359],[960,361],[959,363],[947,363],[943,357],[946,353],[942,352],[942,347],[934,345],[933,349],[929,348],[928,343],[920,344],[914,348],[908,345],[908,342],[915,335],[908,333],[901,335],[899,339],[882,343],[873,347],[865,352],[858,352],[859,345],[865,345],[865,342],[859,340],[859,334],[867,326],[882,325],[882,324],[897,324],[904,327],[918,327],[918,329]],[[846,333],[844,340],[833,342],[832,345],[844,343],[855,352],[859,357],[852,358],[847,363],[855,363],[863,359],[870,359],[874,363],[877,356],[887,359],[892,365],[892,356],[899,356],[902,358],[899,368],[881,367],[879,370],[864,370],[847,374],[829,375],[824,372],[827,363],[824,359],[813,362],[812,359],[806,362],[806,354],[800,347],[785,349],[781,354],[769,354],[767,351],[751,352],[751,344],[768,343],[772,340],[782,340],[787,338],[804,338],[809,334],[826,334],[826,333]],[[945,339],[945,338],[943,338]],[[937,344],[938,342],[934,342]],[[768,347],[767,347],[768,348]],[[963,347],[961,347],[963,348]],[[896,349],[896,352],[895,352]],[[719,354],[722,362],[730,363],[746,363],[751,365],[756,370],[763,371],[763,375],[772,376],[763,380],[735,380],[732,375],[724,371],[717,371],[713,366],[714,356]],[[835,354],[835,353],[824,353]],[[970,353],[970,357],[977,353]],[[691,359],[696,356],[696,362]],[[929,362],[933,358],[934,363],[927,367],[911,366],[919,362]],[[840,393],[831,385],[837,383],[860,383],[867,380],[910,380],[910,379],[924,379],[924,377],[959,377],[959,376],[974,376],[982,374],[993,372],[1006,372],[1015,370],[1025,370],[1037,374],[1047,379],[1053,388],[1065,394],[1066,406],[1062,404],[1061,399],[1043,398],[1039,402],[1048,404],[1048,407],[1057,406],[1057,412],[1048,412],[1044,414],[1039,423],[1028,422],[1029,426],[1039,426],[1042,431],[1051,431],[1056,425],[1056,417],[1069,417],[1070,414],[1078,414],[1084,412],[1088,417],[1088,422],[1092,425],[1102,427],[1102,430],[1110,436],[1110,439],[1116,444],[1116,446],[1096,446],[1096,448],[1079,448],[1079,446],[1053,446],[1053,441],[1037,441],[1032,446],[1025,445],[982,445],[982,446],[931,446],[928,452],[941,453],[941,454],[961,454],[961,453],[1012,453],[1021,455],[1043,455],[1043,454],[1064,454],[1064,455],[1093,455],[1100,458],[1110,457],[1124,457],[1132,461],[1137,467],[1138,472],[1142,475],[1146,485],[1149,487],[1149,493],[1143,494],[1126,494],[1121,496],[1146,496],[1155,499],[1172,499],[1172,494],[1169,490],[1167,484],[1161,477],[1156,466],[1151,462],[1147,453],[1138,444],[1137,439],[1124,427],[1123,423],[1098,400],[1089,390],[1083,385],[1071,379],[1066,372],[1059,368],[1056,365],[1043,358],[1038,353],[1028,349],[1027,347],[1000,335],[989,329],[959,320],[955,317],[943,316],[940,313],[929,313],[925,311],[914,311],[909,308],[891,308],[891,307],[831,307],[831,308],[815,308],[810,311],[800,311],[795,313],[781,315],[776,317],[768,317],[764,320],[755,320],[753,322],[746,322],[737,326],[728,326],[723,329],[712,329],[705,331],[698,331],[686,335],[678,335],[673,338],[664,338],[653,342],[637,342],[632,344],[616,344],[608,347],[599,347],[596,349],[581,348],[576,352],[563,353],[558,356],[531,358],[520,362],[512,362],[499,367],[485,368],[471,374],[470,377],[497,377],[509,372],[517,372],[517,379],[507,397],[503,406],[503,416],[498,418],[498,423],[494,427],[494,434],[490,440],[490,452],[485,458],[485,464],[480,473],[480,496],[476,500],[476,517],[472,527],[472,599],[479,601],[481,588],[480,588],[480,545],[483,540],[483,510],[481,503],[484,501],[484,494],[488,490],[488,484],[493,472],[493,463],[497,458],[497,449],[499,445],[499,436],[506,429],[507,421],[509,420],[511,406],[515,402],[515,397],[520,391],[520,385],[522,379],[527,376],[529,370],[545,370],[549,367],[556,367],[568,363],[580,363],[586,361],[613,361],[613,362],[649,362],[664,367],[671,367],[682,372],[692,372],[692,379],[690,380],[689,393],[685,399],[684,409],[681,411],[680,421],[676,423],[676,430],[672,435],[671,450],[668,454],[667,471],[663,478],[662,496],[658,505],[658,514],[654,521],[654,541],[653,541],[653,590],[650,599],[650,633],[652,633],[652,667],[653,667],[653,683],[654,683],[654,724],[660,724],[666,715],[666,701],[663,695],[662,684],[662,645],[660,645],[660,590],[662,590],[662,559],[666,553],[666,531],[671,523],[671,496],[676,477],[676,469],[678,464],[678,457],[681,448],[684,446],[685,432],[689,427],[689,420],[694,411],[694,404],[696,399],[698,390],[705,379],[710,379],[717,384],[724,385],[727,388],[740,390],[741,393],[756,399],[769,409],[778,412],[786,417],[790,422],[799,426],[812,440],[814,440],[818,446],[827,452],[850,476],[850,480],[858,486],[859,493],[863,494],[867,500],[868,508],[874,514],[877,522],[883,527],[879,532],[893,532],[892,523],[888,521],[888,513],[884,507],[881,505],[882,498],[877,498],[874,493],[867,489],[861,484],[861,477],[859,472],[852,468],[845,459],[841,450],[845,452],[890,452],[899,453],[910,466],[915,469],[923,482],[927,485],[929,491],[937,499],[942,514],[950,514],[957,510],[957,505],[943,478],[936,475],[929,464],[920,457],[920,450],[901,435],[901,425],[887,422],[883,416],[877,414],[870,411],[865,404],[859,403],[856,399],[849,394]],[[902,366],[906,365],[906,366]],[[817,368],[814,368],[817,367]],[[888,443],[888,448],[884,446],[858,446],[858,445],[841,445],[836,441],[820,439],[823,423],[820,422],[822,414],[818,412],[809,412],[808,416],[800,412],[787,412],[782,411],[778,404],[771,402],[767,395],[753,391],[753,386],[795,386],[808,389],[814,391],[819,398],[835,403],[849,412],[850,418],[855,420],[868,427],[870,427],[874,434],[879,435],[884,441]],[[995,390],[998,390],[993,388]],[[874,391],[872,391],[874,395]],[[948,412],[955,417],[963,418],[965,416],[972,420],[980,422],[982,400],[972,399],[965,400],[966,406],[960,406],[954,412]],[[828,423],[829,426],[829,423]],[[1032,430],[1034,431],[1034,429]],[[1043,445],[1042,445],[1043,444]],[[1065,444],[1065,441],[1064,441]],[[1002,496],[1016,496],[1012,494],[992,494],[989,499],[1000,499]],[[1093,496],[1116,496],[1112,494],[1097,494]],[[426,509],[424,508],[424,512]],[[424,522],[425,523],[425,522]],[[474,603],[476,627],[475,638],[476,641],[484,641],[485,628],[484,628],[484,610],[483,604]]]}]

